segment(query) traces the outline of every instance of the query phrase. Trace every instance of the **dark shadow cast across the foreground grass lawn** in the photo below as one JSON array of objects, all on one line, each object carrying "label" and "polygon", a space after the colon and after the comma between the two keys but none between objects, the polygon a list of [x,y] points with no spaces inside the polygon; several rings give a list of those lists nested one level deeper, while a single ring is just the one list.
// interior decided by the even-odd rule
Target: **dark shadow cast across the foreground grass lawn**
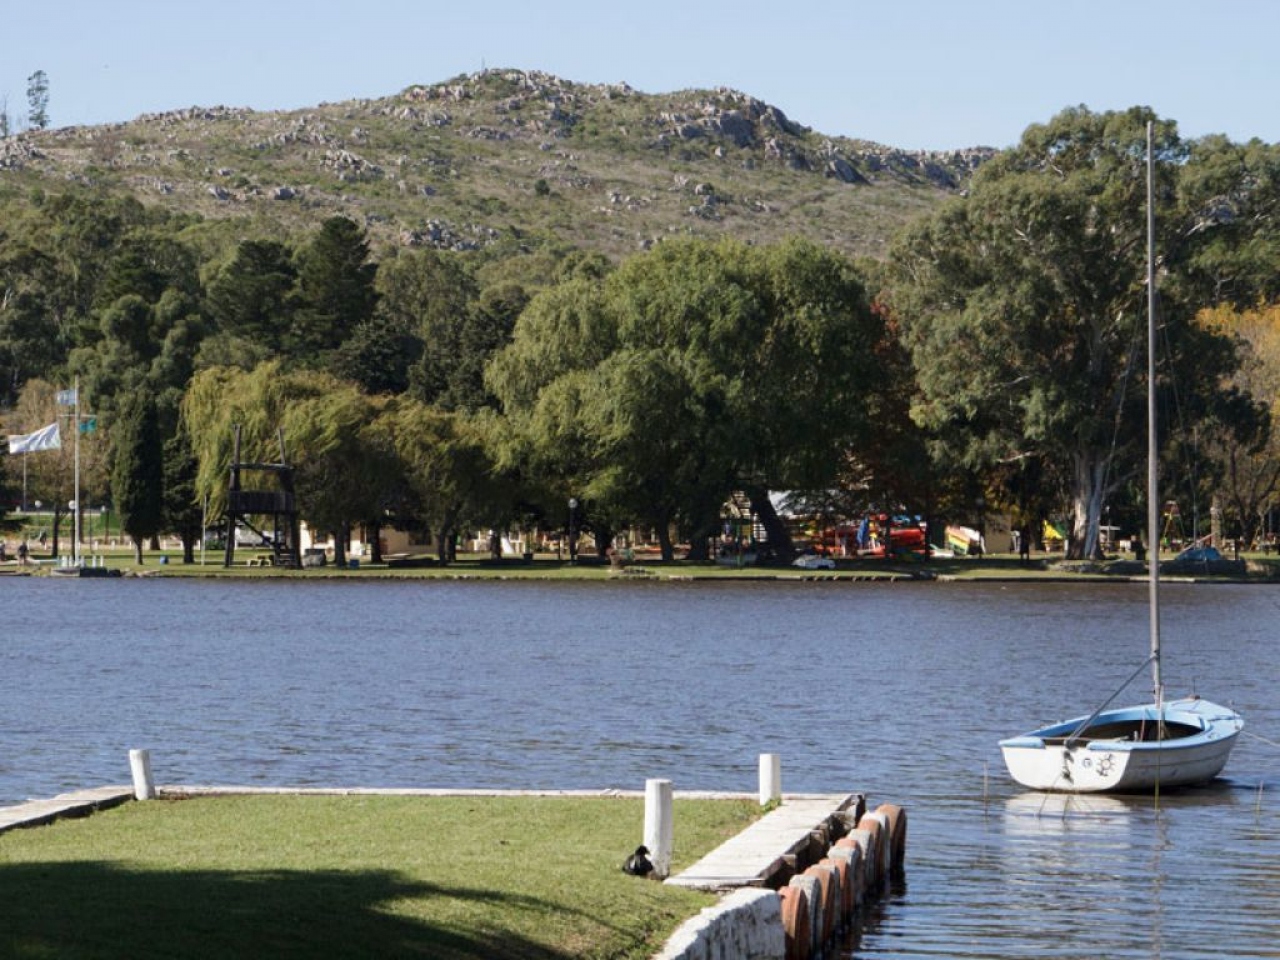
[{"label": "dark shadow cast across the foreground grass lawn", "polygon": [[[388,908],[433,897],[481,901],[494,923],[483,931],[447,927]],[[383,870],[170,873],[105,863],[4,864],[0,956],[563,960],[570,955],[498,925],[504,914],[552,909],[536,899],[436,887]]]}]

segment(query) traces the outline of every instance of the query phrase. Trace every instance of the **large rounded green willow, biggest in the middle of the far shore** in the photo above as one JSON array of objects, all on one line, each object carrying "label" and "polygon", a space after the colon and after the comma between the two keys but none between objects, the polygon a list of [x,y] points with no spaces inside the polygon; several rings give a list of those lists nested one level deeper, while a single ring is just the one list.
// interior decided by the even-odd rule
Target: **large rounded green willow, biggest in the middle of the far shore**
[{"label": "large rounded green willow, biggest in the middle of the far shore", "polygon": [[836,477],[867,433],[881,330],[851,265],[813,244],[663,243],[524,311],[488,371],[504,462],[659,538],[678,524],[695,556],[746,489],[787,556],[767,492]]}]

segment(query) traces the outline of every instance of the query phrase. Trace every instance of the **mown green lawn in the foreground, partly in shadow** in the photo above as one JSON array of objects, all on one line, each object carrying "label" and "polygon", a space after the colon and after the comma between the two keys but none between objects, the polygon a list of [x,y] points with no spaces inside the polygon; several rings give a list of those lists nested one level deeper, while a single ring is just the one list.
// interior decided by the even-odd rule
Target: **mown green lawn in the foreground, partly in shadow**
[{"label": "mown green lawn in the foreground, partly in shadow", "polygon": [[[675,801],[672,870],[755,819]],[[0,836],[0,956],[620,957],[714,902],[620,869],[639,797],[236,796]]]}]

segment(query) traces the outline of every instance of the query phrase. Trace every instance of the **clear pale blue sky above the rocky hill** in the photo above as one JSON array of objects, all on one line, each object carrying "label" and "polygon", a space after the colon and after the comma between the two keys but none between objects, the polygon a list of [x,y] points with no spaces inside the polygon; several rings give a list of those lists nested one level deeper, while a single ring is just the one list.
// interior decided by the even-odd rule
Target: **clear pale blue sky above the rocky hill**
[{"label": "clear pale blue sky above the rocky hill", "polygon": [[831,136],[1012,146],[1068,106],[1280,142],[1280,0],[4,0],[0,101],[51,127],[288,110],[484,68],[732,87]]}]

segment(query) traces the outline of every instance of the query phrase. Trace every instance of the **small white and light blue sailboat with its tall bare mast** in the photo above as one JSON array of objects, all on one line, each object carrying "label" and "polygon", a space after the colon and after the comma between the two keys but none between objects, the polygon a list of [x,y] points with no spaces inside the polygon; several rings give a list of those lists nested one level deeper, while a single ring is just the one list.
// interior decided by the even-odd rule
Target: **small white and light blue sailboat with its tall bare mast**
[{"label": "small white and light blue sailboat with its tall bare mast", "polygon": [[[1164,699],[1160,669],[1160,511],[1156,467],[1156,214],[1153,125],[1147,123],[1147,543],[1151,545],[1148,605],[1153,701],[1111,703],[1085,717],[1055,723],[1000,742],[1010,776],[1032,790],[1073,794],[1142,794],[1206,783],[1226,765],[1244,719],[1198,696]],[[1124,690],[1124,686],[1120,690]]]}]

